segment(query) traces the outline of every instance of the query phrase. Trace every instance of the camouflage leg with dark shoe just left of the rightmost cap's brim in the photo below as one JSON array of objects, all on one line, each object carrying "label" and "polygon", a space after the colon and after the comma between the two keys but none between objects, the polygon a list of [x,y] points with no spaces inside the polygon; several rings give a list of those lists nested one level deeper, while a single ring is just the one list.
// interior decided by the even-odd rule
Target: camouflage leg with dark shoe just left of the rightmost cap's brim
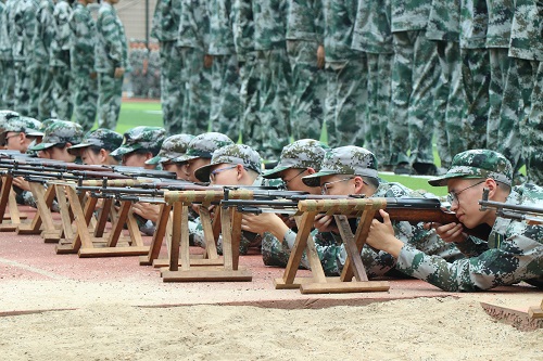
[{"label": "camouflage leg with dark shoe just left of the rightmost cap's brim", "polygon": [[416,31],[413,59],[413,92],[409,100],[409,143],[413,168],[421,175],[435,173],[433,165],[433,100],[440,78],[437,43],[426,31]]}]

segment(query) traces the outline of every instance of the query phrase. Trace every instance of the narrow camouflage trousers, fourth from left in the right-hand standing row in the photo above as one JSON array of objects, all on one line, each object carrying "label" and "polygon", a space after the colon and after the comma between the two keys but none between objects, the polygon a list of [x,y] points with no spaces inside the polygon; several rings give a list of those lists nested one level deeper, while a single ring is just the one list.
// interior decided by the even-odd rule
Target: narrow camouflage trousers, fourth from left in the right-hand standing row
[{"label": "narrow camouflage trousers, fourth from left in the right-hand standing row", "polygon": [[241,141],[260,154],[262,147],[262,123],[258,114],[258,85],[260,67],[256,53],[251,52],[243,56],[239,65],[240,76],[240,114],[241,114]]}]

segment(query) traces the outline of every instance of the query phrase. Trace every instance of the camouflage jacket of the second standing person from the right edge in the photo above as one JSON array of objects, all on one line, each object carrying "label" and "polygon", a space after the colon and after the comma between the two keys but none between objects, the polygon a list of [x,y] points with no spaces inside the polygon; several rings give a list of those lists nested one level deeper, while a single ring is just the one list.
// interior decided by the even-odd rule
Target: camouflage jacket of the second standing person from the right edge
[{"label": "camouflage jacket of the second standing person from the right edge", "polygon": [[514,0],[487,0],[489,28],[487,48],[509,48]]}]

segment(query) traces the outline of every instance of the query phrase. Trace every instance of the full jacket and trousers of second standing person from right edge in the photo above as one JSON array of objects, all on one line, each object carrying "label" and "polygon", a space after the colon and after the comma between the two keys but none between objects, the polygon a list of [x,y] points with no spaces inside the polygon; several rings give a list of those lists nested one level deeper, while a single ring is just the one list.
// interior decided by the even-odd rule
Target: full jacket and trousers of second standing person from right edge
[{"label": "full jacket and trousers of second standing person from right edge", "polygon": [[514,0],[487,0],[489,25],[487,29],[487,49],[490,59],[489,85],[489,123],[487,126],[487,147],[496,150],[500,109],[504,94],[507,69],[509,68],[510,27],[513,22]]}]

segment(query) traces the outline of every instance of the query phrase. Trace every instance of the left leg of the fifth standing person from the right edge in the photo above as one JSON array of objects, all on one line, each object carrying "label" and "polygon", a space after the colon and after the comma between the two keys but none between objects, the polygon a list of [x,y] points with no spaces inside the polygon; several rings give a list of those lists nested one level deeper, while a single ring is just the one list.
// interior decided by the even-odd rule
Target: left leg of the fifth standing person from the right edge
[{"label": "left leg of the fifth standing person from the right edge", "polygon": [[[392,34],[394,61],[392,64],[392,98],[389,130],[391,136],[391,164],[408,165],[408,108],[413,89],[414,39],[412,31]],[[399,167],[396,167],[399,168]],[[404,172],[404,169],[395,169]],[[408,171],[407,169],[405,171]]]}]

